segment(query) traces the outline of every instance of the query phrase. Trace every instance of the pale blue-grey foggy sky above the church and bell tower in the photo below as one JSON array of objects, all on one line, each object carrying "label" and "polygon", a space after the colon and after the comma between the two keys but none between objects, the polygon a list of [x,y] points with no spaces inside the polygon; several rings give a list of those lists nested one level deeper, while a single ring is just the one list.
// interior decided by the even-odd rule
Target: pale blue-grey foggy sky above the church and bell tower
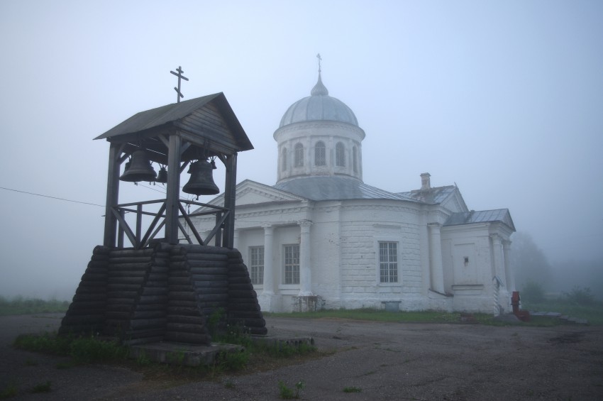
[{"label": "pale blue-grey foggy sky above the church and bell tower", "polygon": [[[109,145],[92,138],[175,102],[179,65],[184,99],[224,92],[255,146],[238,181],[273,185],[272,133],[309,96],[316,53],[366,132],[367,184],[418,189],[430,172],[470,209],[509,208],[549,260],[603,259],[598,0],[0,0],[0,187],[103,205]],[[0,295],[70,297],[104,209],[0,202]]]}]

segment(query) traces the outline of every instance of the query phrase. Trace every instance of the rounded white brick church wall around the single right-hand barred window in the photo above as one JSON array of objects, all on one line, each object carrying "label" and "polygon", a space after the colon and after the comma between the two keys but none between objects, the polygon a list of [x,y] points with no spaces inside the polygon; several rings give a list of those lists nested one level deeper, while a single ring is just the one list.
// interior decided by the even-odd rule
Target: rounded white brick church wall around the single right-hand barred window
[{"label": "rounded white brick church wall around the single right-hand barred window", "polygon": [[[341,223],[342,306],[382,307],[401,300],[401,309],[424,309],[419,216],[396,202],[355,202],[343,208]],[[398,282],[381,283],[379,241],[398,243]]]}]

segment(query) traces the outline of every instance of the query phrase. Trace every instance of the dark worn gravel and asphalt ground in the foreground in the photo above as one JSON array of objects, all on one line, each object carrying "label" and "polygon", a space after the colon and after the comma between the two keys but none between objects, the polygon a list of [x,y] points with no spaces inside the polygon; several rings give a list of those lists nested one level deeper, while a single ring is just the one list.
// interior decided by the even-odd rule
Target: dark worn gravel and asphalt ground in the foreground
[{"label": "dark worn gravel and asphalt ground in the foreground", "polygon": [[[0,392],[22,400],[603,400],[603,327],[407,324],[267,317],[271,336],[311,336],[326,356],[214,381],[146,380],[116,366],[57,368],[65,358],[11,348],[62,314],[0,317]],[[49,380],[52,391],[32,393]],[[357,388],[360,392],[344,392]]]}]

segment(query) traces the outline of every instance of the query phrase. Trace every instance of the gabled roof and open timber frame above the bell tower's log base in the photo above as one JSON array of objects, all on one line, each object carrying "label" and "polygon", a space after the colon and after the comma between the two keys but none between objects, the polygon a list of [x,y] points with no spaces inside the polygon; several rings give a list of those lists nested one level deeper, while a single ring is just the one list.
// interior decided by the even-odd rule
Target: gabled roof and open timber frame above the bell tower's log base
[{"label": "gabled roof and open timber frame above the bell tower's log base", "polygon": [[[123,248],[124,236],[138,249],[157,242],[177,244],[179,232],[192,243],[192,238],[188,238],[183,229],[181,221],[184,219],[197,243],[205,245],[215,239],[216,246],[233,248],[237,153],[253,149],[253,145],[223,93],[142,111],[95,139],[106,139],[111,143],[104,246]],[[121,165],[138,149],[146,150],[150,161],[167,166],[165,199],[119,204]],[[189,163],[200,158],[220,160],[226,167],[224,207],[180,199],[180,176]],[[183,204],[213,210],[216,226],[208,238],[201,238],[194,229],[190,221],[194,215],[188,214]],[[155,209],[159,207],[158,212],[144,210],[152,205]],[[136,215],[134,228],[126,222],[126,212]],[[145,230],[143,216],[153,216]],[[155,238],[162,228],[165,238]]]}]

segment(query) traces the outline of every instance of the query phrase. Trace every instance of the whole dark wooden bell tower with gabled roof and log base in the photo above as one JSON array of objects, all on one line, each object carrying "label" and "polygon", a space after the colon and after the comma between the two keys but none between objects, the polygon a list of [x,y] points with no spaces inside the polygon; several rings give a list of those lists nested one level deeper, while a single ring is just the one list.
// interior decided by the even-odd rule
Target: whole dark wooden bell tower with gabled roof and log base
[{"label": "whole dark wooden bell tower with gabled roof and log base", "polygon": [[[207,322],[217,313],[223,326],[266,334],[248,269],[233,249],[237,153],[253,146],[226,97],[211,94],[142,111],[95,139],[111,144],[104,242],[94,248],[59,333],[102,333],[124,344],[208,345]],[[226,167],[223,207],[180,197],[184,169],[200,161],[207,169],[208,159]],[[167,166],[167,179],[160,180],[167,185],[165,198],[119,203],[120,177],[159,180],[150,162]],[[193,187],[187,190],[196,193]],[[211,178],[206,193],[218,190]],[[190,205],[202,211],[189,213]],[[201,238],[191,218],[207,214],[216,216],[216,224]],[[160,232],[165,236],[158,238]],[[131,246],[124,246],[126,238]]]}]

